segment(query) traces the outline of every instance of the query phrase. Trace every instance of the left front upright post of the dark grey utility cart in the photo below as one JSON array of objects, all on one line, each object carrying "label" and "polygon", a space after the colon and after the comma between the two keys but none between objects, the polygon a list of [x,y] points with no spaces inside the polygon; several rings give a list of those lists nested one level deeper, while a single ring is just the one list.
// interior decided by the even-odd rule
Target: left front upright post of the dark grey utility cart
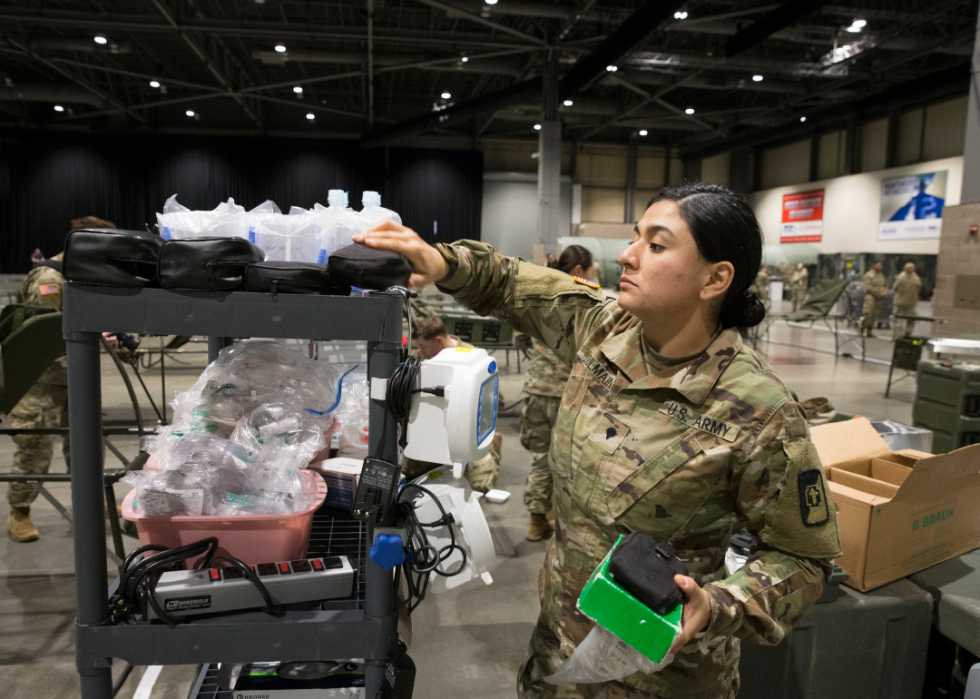
[{"label": "left front upright post of the dark grey utility cart", "polygon": [[[98,333],[69,333],[68,431],[71,436],[71,509],[75,538],[78,626],[109,619],[102,482],[102,369]],[[112,671],[77,666],[82,699],[110,699]]]}]

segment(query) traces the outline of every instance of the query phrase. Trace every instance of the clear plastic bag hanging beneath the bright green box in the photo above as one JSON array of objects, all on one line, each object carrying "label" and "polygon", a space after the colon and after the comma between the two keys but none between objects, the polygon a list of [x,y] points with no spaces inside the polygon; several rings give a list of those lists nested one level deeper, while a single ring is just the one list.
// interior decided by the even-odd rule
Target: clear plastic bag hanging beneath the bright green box
[{"label": "clear plastic bag hanging beneath the bright green box", "polygon": [[655,663],[610,631],[596,624],[578,644],[575,652],[558,666],[555,674],[544,678],[550,684],[598,684],[619,680],[635,672],[649,675],[670,665],[674,656],[668,653]]}]

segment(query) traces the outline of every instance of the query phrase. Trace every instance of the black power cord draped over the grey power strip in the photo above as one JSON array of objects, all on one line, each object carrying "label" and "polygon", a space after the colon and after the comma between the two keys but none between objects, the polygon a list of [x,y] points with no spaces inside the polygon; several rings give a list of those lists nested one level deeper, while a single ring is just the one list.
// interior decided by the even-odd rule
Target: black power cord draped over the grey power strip
[{"label": "black power cord draped over the grey power strip", "polygon": [[[204,556],[198,562],[198,570],[210,568],[212,560],[227,563],[241,570],[245,577],[258,588],[259,594],[262,595],[262,599],[266,603],[265,611],[270,614],[280,614],[279,606],[274,602],[272,595],[269,594],[269,590],[258,575],[237,558],[221,556],[215,559],[214,554],[217,550],[218,539],[213,536],[175,549],[160,544],[148,544],[134,550],[119,566],[119,587],[109,600],[109,614],[112,621],[119,623],[128,620],[134,614],[142,613],[145,599],[153,612],[168,626],[174,627],[179,624],[180,619],[167,614],[160,606],[160,602],[154,594],[154,588],[164,573],[181,570],[185,561],[197,556]],[[143,556],[150,551],[157,553],[152,556]]]}]

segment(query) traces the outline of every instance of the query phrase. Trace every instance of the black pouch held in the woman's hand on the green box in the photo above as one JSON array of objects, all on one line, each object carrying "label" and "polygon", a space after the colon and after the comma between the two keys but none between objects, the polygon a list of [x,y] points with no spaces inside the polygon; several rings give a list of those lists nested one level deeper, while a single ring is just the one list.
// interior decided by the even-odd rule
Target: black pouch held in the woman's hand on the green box
[{"label": "black pouch held in the woman's hand on the green box", "polygon": [[649,534],[628,535],[609,557],[609,576],[647,607],[663,616],[684,601],[675,575],[687,575],[687,566],[674,547],[658,544]]}]

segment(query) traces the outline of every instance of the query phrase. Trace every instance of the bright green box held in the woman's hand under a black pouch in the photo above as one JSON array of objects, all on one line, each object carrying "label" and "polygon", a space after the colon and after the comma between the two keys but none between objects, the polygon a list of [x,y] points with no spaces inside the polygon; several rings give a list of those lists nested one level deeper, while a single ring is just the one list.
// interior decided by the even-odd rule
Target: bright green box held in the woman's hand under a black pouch
[{"label": "bright green box held in the woman's hand under a black pouch", "polygon": [[609,558],[625,538],[619,537],[616,546],[585,583],[578,608],[599,626],[659,663],[680,633],[684,606],[679,604],[667,616],[660,616],[609,577]]}]

